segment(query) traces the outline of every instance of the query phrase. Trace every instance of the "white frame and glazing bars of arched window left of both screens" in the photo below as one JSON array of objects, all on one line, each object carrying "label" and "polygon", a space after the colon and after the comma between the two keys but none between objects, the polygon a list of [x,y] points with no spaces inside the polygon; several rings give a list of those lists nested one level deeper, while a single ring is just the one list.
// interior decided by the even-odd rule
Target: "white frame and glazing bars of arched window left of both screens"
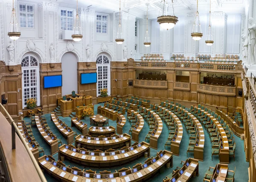
[{"label": "white frame and glazing bars of arched window left of both screens", "polygon": [[[21,67],[21,70],[22,70],[22,73],[25,71],[25,70],[36,70],[36,93],[37,93],[37,97],[36,97],[36,100],[37,100],[37,106],[40,106],[41,105],[41,101],[40,101],[40,74],[39,74],[39,61],[38,61],[38,58],[35,57],[35,55],[32,55],[32,54],[29,54],[29,55],[26,55],[22,58],[21,61],[23,61],[24,58],[26,57],[29,57],[29,65],[30,65],[30,59],[31,57],[34,57],[35,60],[37,61],[37,66],[22,66]],[[23,109],[26,107],[25,105],[25,98],[24,98],[24,89],[26,88],[30,88],[29,89],[29,92],[30,92],[30,96],[31,96],[31,88],[35,88],[34,86],[29,86],[29,87],[25,87],[24,86],[24,74],[22,74],[22,106],[23,106]],[[30,78],[31,76],[29,75],[29,83],[30,83]],[[29,98],[32,98],[32,97],[29,97]],[[29,99],[27,98],[27,99]]]}]

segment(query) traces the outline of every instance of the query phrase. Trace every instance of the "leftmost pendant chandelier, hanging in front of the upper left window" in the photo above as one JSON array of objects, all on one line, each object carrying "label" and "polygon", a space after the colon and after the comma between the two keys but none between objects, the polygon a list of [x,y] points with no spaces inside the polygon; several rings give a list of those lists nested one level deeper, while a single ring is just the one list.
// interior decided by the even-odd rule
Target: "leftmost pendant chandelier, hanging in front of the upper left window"
[{"label": "leftmost pendant chandelier, hanging in front of the upper left window", "polygon": [[18,21],[17,21],[15,9],[14,9],[14,0],[12,0],[12,16],[11,16],[8,36],[12,40],[17,40],[18,38],[20,38],[19,25],[18,25]]}]

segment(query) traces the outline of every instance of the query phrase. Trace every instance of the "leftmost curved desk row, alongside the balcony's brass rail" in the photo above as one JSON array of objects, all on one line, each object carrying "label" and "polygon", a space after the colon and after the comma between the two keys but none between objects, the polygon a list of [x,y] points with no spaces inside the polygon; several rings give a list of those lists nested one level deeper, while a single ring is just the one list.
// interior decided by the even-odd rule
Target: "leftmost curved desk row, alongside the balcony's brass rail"
[{"label": "leftmost curved desk row, alongside the balcony's brass rail", "polygon": [[38,159],[38,157],[39,157],[38,147],[35,145],[35,143],[31,139],[31,137],[29,136],[25,122],[18,121],[17,126],[18,126],[23,138],[25,139],[26,144],[29,146],[30,151],[34,155],[35,159]]}]

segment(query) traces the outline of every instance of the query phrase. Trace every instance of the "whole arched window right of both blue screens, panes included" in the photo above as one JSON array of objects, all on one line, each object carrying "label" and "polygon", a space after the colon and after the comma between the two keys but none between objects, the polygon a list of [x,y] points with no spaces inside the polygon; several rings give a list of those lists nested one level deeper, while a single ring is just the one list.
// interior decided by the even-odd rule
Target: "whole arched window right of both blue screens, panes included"
[{"label": "whole arched window right of both blue screens, panes included", "polygon": [[100,55],[97,60],[97,96],[102,88],[108,88],[108,95],[111,94],[110,87],[110,61],[107,56]]}]

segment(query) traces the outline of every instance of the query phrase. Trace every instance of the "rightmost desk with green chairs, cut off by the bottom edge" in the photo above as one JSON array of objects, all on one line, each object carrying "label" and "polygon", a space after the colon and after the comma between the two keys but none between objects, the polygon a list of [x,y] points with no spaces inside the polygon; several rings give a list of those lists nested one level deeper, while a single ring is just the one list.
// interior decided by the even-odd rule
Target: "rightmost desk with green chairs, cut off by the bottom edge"
[{"label": "rightmost desk with green chairs, cut off by the bottom edge", "polygon": [[235,170],[231,171],[228,170],[227,164],[218,163],[215,167],[209,167],[208,171],[204,175],[204,182],[234,182],[235,172],[236,166]]}]

